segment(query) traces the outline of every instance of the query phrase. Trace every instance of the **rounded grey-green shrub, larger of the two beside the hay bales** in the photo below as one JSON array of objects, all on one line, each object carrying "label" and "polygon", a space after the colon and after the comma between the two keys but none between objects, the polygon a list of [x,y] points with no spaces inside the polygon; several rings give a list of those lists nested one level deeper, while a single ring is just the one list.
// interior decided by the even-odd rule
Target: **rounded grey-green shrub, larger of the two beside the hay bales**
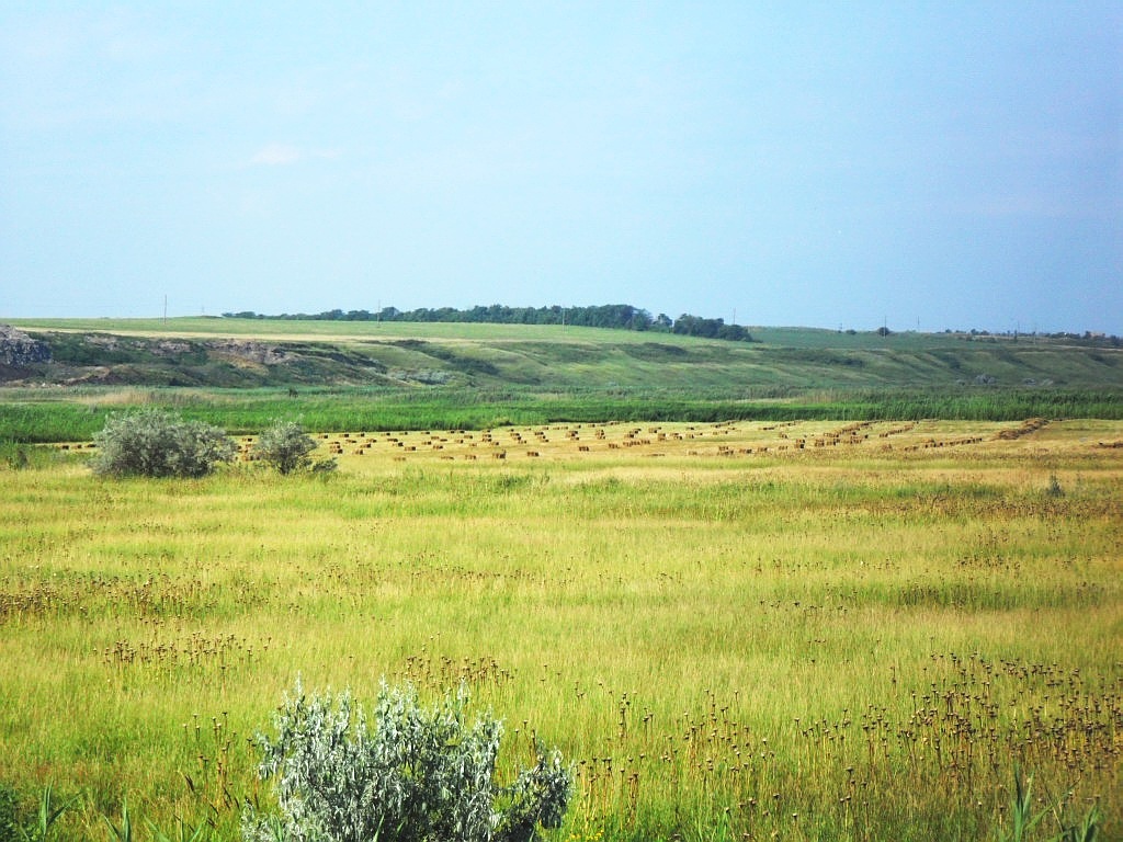
[{"label": "rounded grey-green shrub, larger of the two beside the hay bales", "polygon": [[104,476],[206,476],[237,451],[223,430],[157,409],[110,415],[94,442],[91,467]]}]

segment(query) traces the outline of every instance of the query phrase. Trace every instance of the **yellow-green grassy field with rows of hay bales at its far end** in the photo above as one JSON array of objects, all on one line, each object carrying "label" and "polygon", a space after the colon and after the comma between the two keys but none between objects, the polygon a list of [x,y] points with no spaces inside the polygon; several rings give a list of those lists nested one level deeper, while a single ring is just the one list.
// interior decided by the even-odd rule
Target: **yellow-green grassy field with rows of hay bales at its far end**
[{"label": "yellow-green grassy field with rows of hay bales at its far end", "polygon": [[1123,834],[1123,422],[318,439],[335,474],[0,463],[0,786],[81,794],[60,838],[127,798],[237,839],[298,677],[465,683],[509,767],[574,765],[559,840],[995,839],[1015,767]]}]

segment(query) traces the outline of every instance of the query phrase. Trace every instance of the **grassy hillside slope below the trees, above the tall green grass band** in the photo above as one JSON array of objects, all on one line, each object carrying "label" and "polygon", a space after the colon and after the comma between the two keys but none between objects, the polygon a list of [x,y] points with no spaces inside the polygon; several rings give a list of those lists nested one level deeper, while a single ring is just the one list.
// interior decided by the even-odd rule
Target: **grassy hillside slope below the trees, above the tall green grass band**
[{"label": "grassy hillside slope below the trees, above the tall green grass band", "polygon": [[[1085,392],[1119,401],[1123,350],[1107,340],[971,338],[760,329],[763,341],[550,326],[236,319],[17,320],[54,349],[31,382],[314,388],[407,387],[433,400],[514,391],[587,400],[751,400],[821,392],[940,395],[988,392],[1052,400]],[[116,336],[117,339],[111,338]],[[174,339],[175,341],[168,341]],[[263,363],[226,339],[283,351]],[[101,368],[98,367],[100,364]],[[107,370],[108,368],[108,370]],[[99,379],[100,378],[100,379]],[[1024,395],[1030,395],[1026,399]],[[999,399],[995,399],[999,400]]]}]

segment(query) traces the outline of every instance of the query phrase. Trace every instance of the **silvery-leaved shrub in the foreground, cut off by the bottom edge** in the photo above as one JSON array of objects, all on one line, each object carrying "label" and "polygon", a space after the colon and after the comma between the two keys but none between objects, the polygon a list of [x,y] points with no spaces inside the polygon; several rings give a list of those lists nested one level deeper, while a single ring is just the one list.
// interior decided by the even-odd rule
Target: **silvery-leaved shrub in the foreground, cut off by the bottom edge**
[{"label": "silvery-leaved shrub in the foreground, cut off by the bottom edge", "polygon": [[276,736],[259,735],[258,774],[273,778],[280,815],[253,805],[248,842],[530,842],[558,827],[573,780],[557,751],[536,745],[537,763],[501,786],[495,760],[502,725],[464,719],[462,689],[432,710],[412,687],[383,684],[367,724],[345,692],[285,697]]}]

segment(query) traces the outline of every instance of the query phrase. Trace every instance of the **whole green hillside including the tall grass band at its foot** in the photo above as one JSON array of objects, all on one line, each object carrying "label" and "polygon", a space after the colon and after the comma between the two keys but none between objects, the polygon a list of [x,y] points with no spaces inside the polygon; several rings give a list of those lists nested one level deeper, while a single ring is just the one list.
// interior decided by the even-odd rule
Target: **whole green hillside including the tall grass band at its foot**
[{"label": "whole green hillside including the tall grass band at its foot", "polygon": [[[17,320],[0,440],[88,439],[122,404],[231,431],[551,421],[1120,418],[1113,338],[752,328],[752,342],[573,326]],[[24,340],[24,345],[27,341]]]}]

